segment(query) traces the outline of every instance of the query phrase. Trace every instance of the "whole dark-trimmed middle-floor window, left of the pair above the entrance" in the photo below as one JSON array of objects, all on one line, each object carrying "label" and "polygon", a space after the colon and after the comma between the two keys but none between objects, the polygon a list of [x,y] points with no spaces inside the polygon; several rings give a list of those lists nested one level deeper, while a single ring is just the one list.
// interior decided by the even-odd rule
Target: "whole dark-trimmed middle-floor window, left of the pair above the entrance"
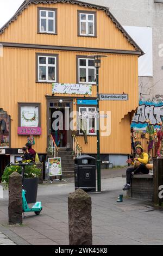
[{"label": "whole dark-trimmed middle-floor window, left of the pair above the entrance", "polygon": [[57,82],[57,55],[37,54],[37,81]]}]

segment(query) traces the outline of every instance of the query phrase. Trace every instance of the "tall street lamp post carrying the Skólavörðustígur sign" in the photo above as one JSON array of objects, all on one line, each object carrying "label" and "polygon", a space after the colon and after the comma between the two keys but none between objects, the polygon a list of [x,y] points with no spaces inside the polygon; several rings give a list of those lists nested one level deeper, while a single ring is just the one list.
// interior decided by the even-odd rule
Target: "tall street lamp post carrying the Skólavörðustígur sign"
[{"label": "tall street lamp post carrying the Sk\u00f3lav\u00f6r\u00f0ust\u00edgur sign", "polygon": [[[99,68],[101,67],[101,58],[107,57],[105,55],[89,56],[94,58],[96,68],[96,86],[97,86],[97,114],[99,116]],[[97,129],[97,191],[101,192],[101,160],[100,160],[100,121],[98,119]]]}]

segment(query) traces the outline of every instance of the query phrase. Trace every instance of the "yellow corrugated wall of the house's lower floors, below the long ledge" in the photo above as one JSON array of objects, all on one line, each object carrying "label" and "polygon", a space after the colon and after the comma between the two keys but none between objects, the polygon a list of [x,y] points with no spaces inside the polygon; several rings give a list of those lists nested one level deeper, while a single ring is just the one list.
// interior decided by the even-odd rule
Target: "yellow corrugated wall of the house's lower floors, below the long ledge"
[{"label": "yellow corrugated wall of the house's lower floors, below the long ledge", "polygon": [[[83,55],[83,53],[4,48],[4,56],[0,58],[0,84],[1,95],[3,95],[1,97],[1,107],[11,116],[11,147],[20,148],[27,139],[26,136],[17,135],[17,102],[40,102],[42,135],[40,138],[35,137],[35,148],[38,152],[45,153],[47,143],[45,95],[52,95],[52,84],[35,83],[36,52],[59,54],[59,82],[61,83],[76,83],[76,56]],[[108,54],[108,57],[102,60],[99,77],[100,93],[124,92],[129,94],[128,101],[100,102],[101,111],[105,113],[111,111],[111,136],[101,138],[101,151],[102,153],[128,153],[130,143],[126,142],[130,132],[129,117],[122,118],[128,112],[136,109],[138,104],[137,57]],[[56,96],[63,97],[61,94]],[[81,95],[71,96],[81,97]],[[96,97],[96,86],[93,86],[92,97]],[[124,137],[124,133],[126,137]],[[120,137],[120,135],[123,136]],[[119,139],[117,139],[118,137]],[[82,145],[84,152],[96,153],[96,137],[89,137],[89,144],[87,145],[84,144],[84,138],[79,137],[79,143]],[[123,147],[121,147],[121,144]]]}]

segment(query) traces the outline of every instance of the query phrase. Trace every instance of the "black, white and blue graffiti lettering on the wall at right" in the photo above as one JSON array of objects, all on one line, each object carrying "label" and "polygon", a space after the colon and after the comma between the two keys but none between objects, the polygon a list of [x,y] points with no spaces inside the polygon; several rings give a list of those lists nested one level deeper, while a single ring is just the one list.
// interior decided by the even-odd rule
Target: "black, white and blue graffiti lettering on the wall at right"
[{"label": "black, white and blue graffiti lettering on the wall at right", "polygon": [[139,107],[133,117],[131,126],[135,130],[143,130],[147,127],[147,120],[156,125],[163,120],[163,103],[162,102],[139,102]]}]

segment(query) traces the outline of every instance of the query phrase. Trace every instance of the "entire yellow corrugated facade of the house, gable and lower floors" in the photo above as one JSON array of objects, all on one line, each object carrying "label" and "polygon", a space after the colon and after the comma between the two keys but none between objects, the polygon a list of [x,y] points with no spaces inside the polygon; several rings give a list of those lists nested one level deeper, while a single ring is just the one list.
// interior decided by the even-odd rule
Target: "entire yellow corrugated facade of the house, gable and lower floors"
[{"label": "entire yellow corrugated facade of the house, gable and lower floors", "polygon": [[[58,9],[58,35],[37,34],[37,7]],[[97,11],[97,38],[77,36],[77,10]],[[32,4],[0,35],[1,42],[24,44],[60,45],[77,47],[135,50],[102,10],[79,7],[73,4]],[[36,83],[36,53],[59,54],[59,82],[76,83],[76,56],[90,52],[36,50],[29,48],[4,48],[0,58],[0,108],[11,116],[11,148],[21,148],[26,136],[17,135],[18,102],[41,103],[42,135],[35,136],[35,149],[46,153],[47,148],[47,101],[52,95],[52,84]],[[138,56],[105,54],[99,70],[100,93],[129,94],[128,101],[101,101],[100,110],[111,111],[111,135],[101,138],[101,153],[130,153],[130,112],[138,106]],[[63,95],[58,95],[64,97]],[[65,95],[65,96],[70,96]],[[81,98],[81,95],[71,95]],[[93,86],[92,97],[96,97]],[[74,99],[74,100],[76,100]],[[76,110],[76,105],[73,105]],[[96,136],[88,136],[88,144],[78,137],[85,153],[97,153]]]}]

